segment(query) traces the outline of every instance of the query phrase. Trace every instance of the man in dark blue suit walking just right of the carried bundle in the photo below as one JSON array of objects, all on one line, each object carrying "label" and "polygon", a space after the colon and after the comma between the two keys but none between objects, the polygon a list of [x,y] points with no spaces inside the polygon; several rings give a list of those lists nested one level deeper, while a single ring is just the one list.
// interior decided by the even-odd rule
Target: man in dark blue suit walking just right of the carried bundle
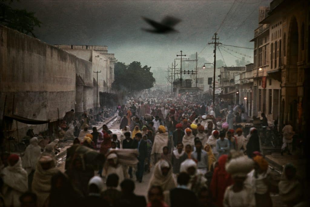
[{"label": "man in dark blue suit walking just right of the carried bundle", "polygon": [[138,182],[142,182],[143,172],[144,172],[144,160],[148,156],[147,142],[142,139],[141,133],[135,134],[134,146],[138,149],[138,164],[136,177]]}]

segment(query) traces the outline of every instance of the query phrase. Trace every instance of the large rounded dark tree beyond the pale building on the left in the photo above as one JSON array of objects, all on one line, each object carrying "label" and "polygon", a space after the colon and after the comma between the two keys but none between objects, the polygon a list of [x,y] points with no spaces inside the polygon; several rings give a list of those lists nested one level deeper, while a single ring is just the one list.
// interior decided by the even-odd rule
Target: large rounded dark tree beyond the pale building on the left
[{"label": "large rounded dark tree beyond the pale building on the left", "polygon": [[129,65],[117,62],[114,65],[114,82],[113,90],[123,91],[140,91],[152,88],[155,83],[153,73],[150,72],[151,67],[144,65],[138,61],[133,61]]}]

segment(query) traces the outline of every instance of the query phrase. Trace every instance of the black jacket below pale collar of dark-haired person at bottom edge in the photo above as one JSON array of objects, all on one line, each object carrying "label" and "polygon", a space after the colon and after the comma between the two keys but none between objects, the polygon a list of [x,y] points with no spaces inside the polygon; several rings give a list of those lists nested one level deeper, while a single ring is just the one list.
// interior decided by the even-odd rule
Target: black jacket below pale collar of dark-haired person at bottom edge
[{"label": "black jacket below pale collar of dark-haired person at bottom edge", "polygon": [[198,199],[193,191],[183,188],[170,190],[170,207],[197,207]]}]

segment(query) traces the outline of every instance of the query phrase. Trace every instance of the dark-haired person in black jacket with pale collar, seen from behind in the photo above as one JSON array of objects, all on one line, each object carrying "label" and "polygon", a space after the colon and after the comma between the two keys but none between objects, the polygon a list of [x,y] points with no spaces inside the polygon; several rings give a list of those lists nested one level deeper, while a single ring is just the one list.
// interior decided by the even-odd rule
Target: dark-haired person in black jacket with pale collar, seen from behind
[{"label": "dark-haired person in black jacket with pale collar, seen from behind", "polygon": [[177,178],[178,186],[170,190],[170,206],[193,206],[197,207],[197,196],[187,188],[190,176],[188,173],[180,173]]}]

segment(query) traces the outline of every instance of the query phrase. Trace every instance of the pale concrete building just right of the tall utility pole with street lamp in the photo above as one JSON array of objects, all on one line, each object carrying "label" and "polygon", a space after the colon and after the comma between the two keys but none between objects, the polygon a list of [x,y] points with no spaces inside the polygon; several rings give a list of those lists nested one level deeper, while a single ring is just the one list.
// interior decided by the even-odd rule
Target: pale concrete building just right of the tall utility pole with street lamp
[{"label": "pale concrete building just right of the tall utility pole with street lamp", "polygon": [[235,76],[246,70],[246,67],[221,67],[219,77],[219,88],[221,94],[219,98],[223,101],[236,102]]}]

